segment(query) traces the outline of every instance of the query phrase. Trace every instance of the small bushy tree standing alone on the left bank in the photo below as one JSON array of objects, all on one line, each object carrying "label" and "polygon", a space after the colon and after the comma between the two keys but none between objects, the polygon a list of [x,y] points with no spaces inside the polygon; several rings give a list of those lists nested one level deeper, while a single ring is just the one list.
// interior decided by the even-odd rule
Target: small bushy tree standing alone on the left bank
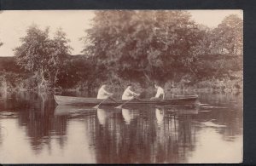
[{"label": "small bushy tree standing alone on the left bank", "polygon": [[38,26],[32,25],[20,41],[20,47],[15,48],[17,63],[38,77],[38,88],[55,86],[63,60],[71,49],[65,33],[59,29],[55,32],[55,37],[50,39],[49,27],[42,31]]}]

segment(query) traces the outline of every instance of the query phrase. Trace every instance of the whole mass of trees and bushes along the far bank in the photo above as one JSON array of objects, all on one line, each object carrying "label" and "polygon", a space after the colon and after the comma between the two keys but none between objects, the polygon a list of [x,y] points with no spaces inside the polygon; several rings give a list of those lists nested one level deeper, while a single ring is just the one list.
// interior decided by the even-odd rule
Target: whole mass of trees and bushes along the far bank
[{"label": "whole mass of trees and bushes along the far bank", "polygon": [[241,85],[234,74],[242,71],[242,20],[236,15],[211,29],[195,24],[185,11],[102,10],[83,39],[84,54],[71,56],[61,29],[49,37],[49,27],[30,26],[15,48],[17,64],[0,58],[0,72],[9,73],[0,77],[14,88],[89,94],[106,82],[117,91],[128,83],[139,91],[154,82],[167,89],[175,84],[180,89]]}]

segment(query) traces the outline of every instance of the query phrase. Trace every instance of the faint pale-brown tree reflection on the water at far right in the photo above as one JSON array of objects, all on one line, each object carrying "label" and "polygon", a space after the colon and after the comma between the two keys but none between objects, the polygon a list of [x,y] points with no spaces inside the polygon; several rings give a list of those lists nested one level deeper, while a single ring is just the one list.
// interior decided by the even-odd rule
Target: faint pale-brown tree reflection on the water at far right
[{"label": "faint pale-brown tree reflection on the water at far right", "polygon": [[205,103],[209,103],[213,108],[207,109],[209,112],[200,113],[195,117],[196,121],[211,121],[217,125],[224,125],[218,128],[218,132],[224,135],[225,140],[242,134],[242,95],[211,94],[207,97],[201,96]]}]

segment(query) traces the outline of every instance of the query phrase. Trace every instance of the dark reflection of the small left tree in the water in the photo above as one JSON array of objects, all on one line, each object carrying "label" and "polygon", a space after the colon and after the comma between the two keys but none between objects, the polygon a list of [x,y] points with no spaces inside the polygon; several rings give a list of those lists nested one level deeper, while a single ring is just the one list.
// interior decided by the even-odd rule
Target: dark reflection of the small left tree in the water
[{"label": "dark reflection of the small left tree in the water", "polygon": [[67,117],[54,117],[55,101],[50,94],[20,93],[13,96],[9,105],[18,112],[18,123],[26,127],[32,149],[40,152],[46,145],[51,151],[50,141],[55,138],[61,147],[65,144]]}]

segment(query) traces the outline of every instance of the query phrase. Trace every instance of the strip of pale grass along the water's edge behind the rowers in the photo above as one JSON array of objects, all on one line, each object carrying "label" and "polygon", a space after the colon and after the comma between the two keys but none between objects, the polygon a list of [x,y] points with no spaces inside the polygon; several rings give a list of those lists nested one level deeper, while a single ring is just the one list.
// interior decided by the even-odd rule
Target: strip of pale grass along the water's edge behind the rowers
[{"label": "strip of pale grass along the water's edge behind the rowers", "polygon": [[[125,89],[125,85],[110,84],[109,91],[122,92]],[[143,91],[154,92],[154,86],[150,85],[146,88],[142,88],[139,83],[133,83],[134,89],[138,93]],[[181,92],[187,94],[196,94],[196,92],[218,92],[218,93],[240,93],[242,92],[242,80],[241,78],[230,79],[225,77],[223,79],[211,78],[198,81],[196,83],[168,81],[162,85],[166,90],[166,93],[180,94]],[[95,95],[99,86],[89,86],[87,83],[78,83],[70,89],[52,88],[46,89],[52,92],[79,92],[79,91],[90,91],[90,95]],[[5,74],[0,76],[0,90],[6,92],[14,91],[38,91],[37,78],[36,77],[22,77],[14,73]]]}]

